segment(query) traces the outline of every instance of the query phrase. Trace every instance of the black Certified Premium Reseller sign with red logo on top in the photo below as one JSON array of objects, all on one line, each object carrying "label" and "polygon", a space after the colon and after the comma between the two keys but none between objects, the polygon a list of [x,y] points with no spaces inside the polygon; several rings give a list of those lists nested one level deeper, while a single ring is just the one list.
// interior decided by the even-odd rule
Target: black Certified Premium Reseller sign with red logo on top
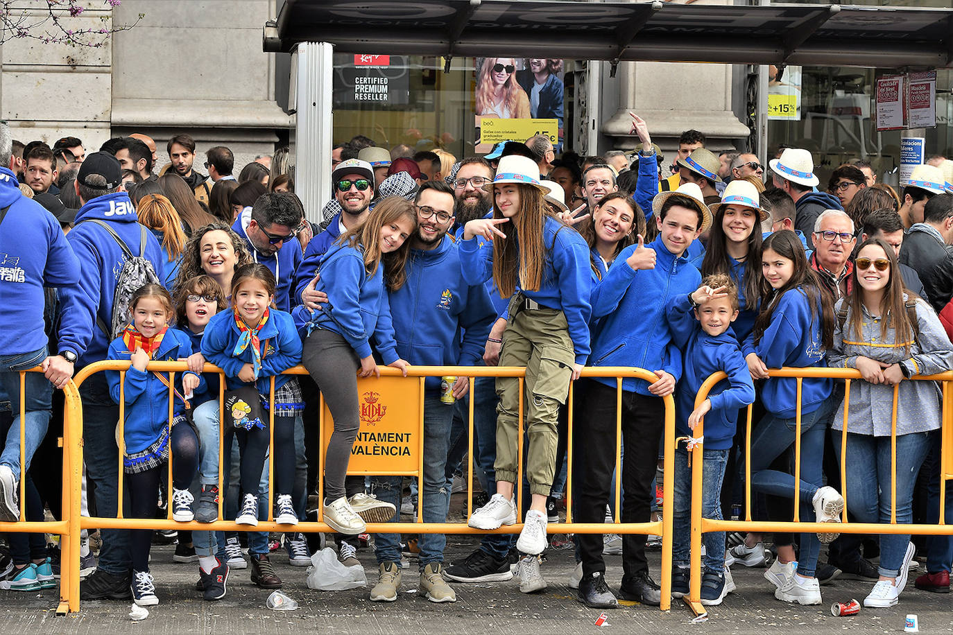
[{"label": "black Certified Premium Reseller sign with red logo on top", "polygon": [[335,69],[335,107],[407,104],[410,73],[403,55],[356,54],[354,66]]}]

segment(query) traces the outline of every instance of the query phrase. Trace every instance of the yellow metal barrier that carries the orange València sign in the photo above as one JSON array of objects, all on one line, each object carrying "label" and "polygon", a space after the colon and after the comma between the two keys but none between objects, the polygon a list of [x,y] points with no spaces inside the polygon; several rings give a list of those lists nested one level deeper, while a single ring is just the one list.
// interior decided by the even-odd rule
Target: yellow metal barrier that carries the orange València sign
[{"label": "yellow metal barrier that carries the orange Val\u00e8ncia sign", "polygon": [[[122,501],[122,486],[123,486],[123,422],[125,420],[125,404],[124,404],[124,390],[122,384],[125,380],[125,372],[131,366],[129,362],[122,361],[104,361],[91,364],[88,367],[84,367],[79,370],[75,377],[73,378],[73,385],[71,389],[75,392],[76,387],[82,385],[93,373],[101,372],[104,370],[117,370],[120,373],[120,395],[119,395],[119,430],[117,433],[117,440],[120,444],[119,446],[119,483],[118,483],[118,500]],[[168,373],[170,384],[174,381],[174,375],[176,372],[181,372],[187,369],[185,362],[150,362],[147,366],[147,369],[150,371],[156,371],[161,373]],[[217,372],[223,374],[221,369],[214,367],[211,364],[206,364],[203,372]],[[399,370],[389,367],[380,367],[381,377],[401,377]],[[307,375],[308,371],[301,366],[296,366],[289,368],[285,371],[286,374],[294,375]],[[383,469],[377,474],[380,475],[407,475],[407,476],[416,476],[418,491],[423,491],[423,385],[424,380],[427,377],[441,377],[441,376],[456,376],[456,377],[469,377],[470,378],[470,391],[473,393],[474,387],[474,378],[476,377],[517,377],[519,379],[519,394],[520,394],[520,414],[519,414],[519,463],[517,467],[517,482],[522,483],[523,475],[523,461],[522,461],[522,445],[523,445],[523,416],[522,416],[522,399],[523,399],[523,378],[525,376],[525,368],[523,367],[409,367],[407,371],[407,379],[404,381],[416,381],[417,387],[419,389],[419,417],[417,422],[417,439],[419,441],[418,446],[416,446],[417,452],[417,461],[416,469],[413,471],[408,470],[387,470]],[[671,395],[664,398],[665,406],[665,426],[664,426],[664,473],[665,479],[663,481],[663,496],[666,504],[662,506],[662,517],[660,521],[649,522],[649,523],[619,523],[619,513],[621,506],[619,504],[619,492],[621,490],[621,395],[622,395],[622,379],[623,378],[635,378],[643,379],[649,382],[654,382],[658,379],[655,373],[652,373],[648,370],[642,368],[633,368],[633,367],[586,367],[582,370],[583,377],[613,377],[617,380],[617,443],[616,443],[616,523],[613,525],[605,525],[602,523],[590,523],[590,524],[578,524],[572,522],[572,455],[573,455],[573,400],[574,400],[574,386],[570,387],[569,392],[569,426],[568,426],[568,446],[567,446],[567,458],[569,461],[568,466],[568,476],[566,483],[567,491],[567,500],[566,500],[566,523],[553,523],[548,525],[549,533],[594,533],[594,534],[603,534],[603,533],[619,533],[619,534],[657,534],[662,538],[662,564],[661,564],[661,576],[660,576],[660,585],[661,585],[661,610],[668,610],[671,603],[671,587],[672,587],[672,518],[673,511],[672,505],[669,504],[672,501],[673,492],[674,492],[674,483],[669,475],[674,473],[675,467],[675,454],[674,454],[674,443],[675,443],[675,402]],[[375,379],[358,379],[358,392],[362,392],[365,388],[373,387]],[[219,413],[224,410],[224,398],[225,398],[225,382],[222,381],[219,384]],[[172,420],[172,409],[173,409],[173,395],[169,396],[169,418]],[[270,402],[274,403],[274,378],[272,379]],[[65,444],[69,444],[70,447],[70,456],[71,456],[71,466],[82,466],[82,408],[79,404],[78,393],[76,394],[74,407],[68,408],[66,421],[64,422],[64,427],[70,430],[70,433],[65,437]],[[321,407],[321,415],[318,419],[319,435],[323,440],[325,439],[325,407]],[[270,456],[274,457],[274,407],[269,408],[271,413],[271,441],[270,441]],[[469,444],[470,444],[470,455],[473,456],[473,415],[474,415],[474,404],[473,400],[470,401],[470,411],[469,411]],[[224,465],[224,439],[225,435],[219,434],[219,447],[218,447],[218,479],[219,483],[222,482],[222,466]],[[324,447],[322,447],[322,452]],[[169,468],[169,482],[172,483],[172,445],[170,444],[170,460],[168,462]],[[323,457],[322,457],[323,459]],[[321,462],[323,465],[323,460]],[[271,492],[272,483],[274,482],[274,464],[269,462],[269,491]],[[237,525],[233,521],[224,521],[217,520],[214,523],[180,523],[172,520],[172,506],[169,506],[168,516],[165,520],[156,520],[156,519],[129,519],[122,517],[122,506],[117,507],[118,513],[117,518],[101,518],[101,517],[80,517],[79,514],[79,496],[80,496],[80,481],[75,478],[76,470],[71,469],[71,483],[70,483],[70,492],[71,492],[71,514],[69,517],[70,523],[68,523],[68,530],[71,532],[72,536],[76,537],[76,540],[71,540],[71,548],[69,549],[69,557],[66,557],[64,552],[64,557],[62,559],[62,570],[66,571],[69,569],[73,574],[72,577],[75,578],[74,584],[71,578],[71,585],[69,586],[69,609],[71,611],[78,610],[79,605],[79,528],[91,529],[91,528],[121,528],[121,529],[192,529],[195,531],[285,531],[289,526],[278,525],[274,523],[273,509],[269,505],[268,513],[268,522],[259,522],[257,526],[249,528],[246,525]],[[349,470],[350,472],[350,470]],[[366,470],[358,471],[356,473],[370,473]],[[65,480],[65,478],[64,478]],[[473,460],[470,461],[470,468],[467,473],[467,483],[468,491],[473,492]],[[67,496],[67,483],[64,483],[64,499]],[[323,478],[319,473],[318,475],[318,492],[320,493],[323,488]],[[518,486],[517,490],[517,506],[522,508],[522,487]],[[272,497],[269,496],[271,501]],[[222,518],[222,505],[223,505],[224,496],[219,497],[218,503],[218,517]],[[423,523],[423,511],[422,506],[417,506],[417,518],[416,523],[369,523],[367,525],[367,530],[372,533],[407,533],[407,532],[416,532],[416,533],[449,533],[449,534],[478,534],[482,535],[484,533],[518,533],[522,529],[522,524],[517,523],[512,526],[502,526],[498,529],[492,531],[485,531],[481,529],[474,529],[466,525],[466,523]],[[472,497],[468,496],[467,502],[467,516],[473,511],[473,502]],[[19,524],[17,525],[19,527]],[[48,526],[49,527],[49,526]],[[49,530],[46,529],[46,530]],[[295,531],[303,532],[315,532],[315,531],[332,531],[330,526],[327,526],[322,522],[322,510],[318,506],[318,518],[317,522],[302,522],[295,526]],[[74,533],[72,533],[74,531]],[[73,588],[74,587],[74,588]]]}]

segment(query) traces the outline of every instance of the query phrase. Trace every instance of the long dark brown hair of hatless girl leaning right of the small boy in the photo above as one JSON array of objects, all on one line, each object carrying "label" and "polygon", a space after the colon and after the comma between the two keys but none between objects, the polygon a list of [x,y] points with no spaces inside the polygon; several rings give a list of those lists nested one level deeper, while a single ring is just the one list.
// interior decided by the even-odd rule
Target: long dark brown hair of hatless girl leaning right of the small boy
[{"label": "long dark brown hair of hatless girl leaning right of the small boy", "polygon": [[[804,296],[807,298],[807,305],[811,309],[811,325],[814,320],[821,319],[821,346],[830,348],[834,346],[834,308],[833,299],[830,293],[823,288],[821,280],[818,279],[817,272],[807,263],[807,257],[804,255],[804,246],[801,245],[801,239],[798,234],[790,229],[781,229],[767,237],[761,246],[761,256],[764,252],[771,249],[781,258],[785,258],[794,263],[794,272],[791,279],[784,283],[784,286],[775,289],[771,287],[767,279],[758,271],[760,281],[761,308],[758,318],[755,320],[755,344],[760,342],[761,336],[767,327],[771,325],[771,317],[781,296],[787,291],[797,291],[801,288]],[[818,304],[821,304],[821,315],[818,315]]]}]

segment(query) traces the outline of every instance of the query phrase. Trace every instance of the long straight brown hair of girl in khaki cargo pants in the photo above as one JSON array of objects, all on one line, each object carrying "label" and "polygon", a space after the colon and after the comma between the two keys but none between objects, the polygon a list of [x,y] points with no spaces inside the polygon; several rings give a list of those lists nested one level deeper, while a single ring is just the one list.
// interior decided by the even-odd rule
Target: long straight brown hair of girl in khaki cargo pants
[{"label": "long straight brown hair of girl in khaki cargo pants", "polygon": [[[504,226],[507,237],[493,241],[493,280],[504,298],[513,295],[517,283],[519,288],[527,291],[538,291],[542,286],[546,264],[543,225],[546,217],[552,216],[540,189],[519,183],[504,184],[511,185],[519,192],[519,209]],[[494,186],[494,189],[497,187],[500,186]],[[496,204],[493,217],[504,217]]]}]

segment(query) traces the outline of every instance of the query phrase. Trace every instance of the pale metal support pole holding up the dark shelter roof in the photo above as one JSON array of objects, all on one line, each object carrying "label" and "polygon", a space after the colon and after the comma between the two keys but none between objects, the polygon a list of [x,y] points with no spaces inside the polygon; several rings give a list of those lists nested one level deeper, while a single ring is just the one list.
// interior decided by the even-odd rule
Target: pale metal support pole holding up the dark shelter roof
[{"label": "pale metal support pole holding up the dark shelter roof", "polygon": [[331,199],[335,48],[327,42],[302,42],[296,52],[294,191],[308,220],[320,223],[321,208]]}]

